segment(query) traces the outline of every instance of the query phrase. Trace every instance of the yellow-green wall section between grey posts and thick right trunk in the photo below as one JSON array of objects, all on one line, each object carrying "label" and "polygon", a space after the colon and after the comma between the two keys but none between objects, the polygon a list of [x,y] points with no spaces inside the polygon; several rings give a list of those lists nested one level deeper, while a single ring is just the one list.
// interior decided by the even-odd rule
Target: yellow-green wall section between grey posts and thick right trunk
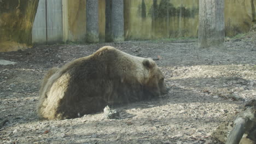
[{"label": "yellow-green wall section between grey posts and thick right trunk", "polygon": [[197,35],[197,0],[158,0],[153,3],[153,0],[125,0],[126,40]]}]

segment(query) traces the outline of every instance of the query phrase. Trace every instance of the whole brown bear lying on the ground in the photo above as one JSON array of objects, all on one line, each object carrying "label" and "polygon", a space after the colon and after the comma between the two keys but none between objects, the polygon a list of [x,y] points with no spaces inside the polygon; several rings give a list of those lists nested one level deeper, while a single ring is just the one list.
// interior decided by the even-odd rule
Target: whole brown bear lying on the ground
[{"label": "whole brown bear lying on the ground", "polygon": [[90,56],[53,68],[45,75],[37,111],[46,119],[65,119],[103,110],[108,104],[139,101],[168,92],[150,58],[104,46]]}]

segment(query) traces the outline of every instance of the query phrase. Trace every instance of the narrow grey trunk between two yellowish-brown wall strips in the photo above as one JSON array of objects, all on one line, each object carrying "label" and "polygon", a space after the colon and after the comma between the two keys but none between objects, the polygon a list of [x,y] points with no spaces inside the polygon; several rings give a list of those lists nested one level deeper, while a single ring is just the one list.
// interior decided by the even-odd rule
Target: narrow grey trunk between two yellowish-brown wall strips
[{"label": "narrow grey trunk between two yellowish-brown wall strips", "polygon": [[98,43],[98,1],[86,1],[86,42]]}]

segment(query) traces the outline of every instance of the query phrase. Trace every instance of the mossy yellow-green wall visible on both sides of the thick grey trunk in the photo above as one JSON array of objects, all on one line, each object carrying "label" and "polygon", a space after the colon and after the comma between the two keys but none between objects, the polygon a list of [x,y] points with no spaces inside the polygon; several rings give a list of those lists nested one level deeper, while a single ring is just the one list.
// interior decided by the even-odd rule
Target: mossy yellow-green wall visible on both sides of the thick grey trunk
[{"label": "mossy yellow-green wall visible on both sides of the thick grey trunk", "polygon": [[[197,37],[197,0],[124,1],[126,40]],[[226,36],[248,32],[255,25],[255,4],[255,0],[225,0]]]}]

